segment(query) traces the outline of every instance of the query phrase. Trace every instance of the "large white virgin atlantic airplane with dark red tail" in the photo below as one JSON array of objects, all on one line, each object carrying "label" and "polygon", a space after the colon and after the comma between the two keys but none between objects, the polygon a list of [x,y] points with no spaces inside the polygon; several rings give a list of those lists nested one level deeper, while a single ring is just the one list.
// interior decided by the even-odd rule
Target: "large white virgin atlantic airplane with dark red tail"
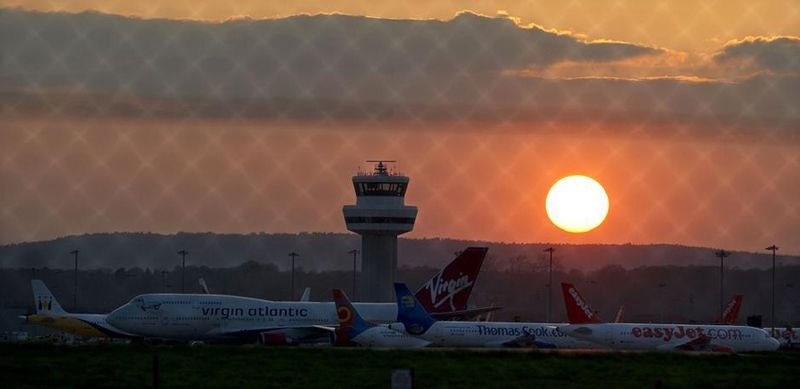
[{"label": "large white virgin atlantic airplane with dark red tail", "polygon": [[[486,256],[485,247],[464,250],[434,275],[417,296],[440,318],[480,314],[497,308],[467,309],[466,302]],[[370,321],[397,318],[394,303],[356,303]],[[321,326],[335,325],[332,302],[270,301],[214,294],[143,294],[108,315],[113,326],[145,338],[260,341],[292,344],[329,338]]]}]

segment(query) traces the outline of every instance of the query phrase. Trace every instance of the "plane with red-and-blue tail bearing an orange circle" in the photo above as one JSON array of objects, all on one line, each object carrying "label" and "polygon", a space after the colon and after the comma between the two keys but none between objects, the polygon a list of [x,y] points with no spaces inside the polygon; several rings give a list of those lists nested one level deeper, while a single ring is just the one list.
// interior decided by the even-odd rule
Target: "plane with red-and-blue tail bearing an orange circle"
[{"label": "plane with red-and-blue tail bearing an orange circle", "polygon": [[386,325],[364,320],[358,310],[353,307],[347,295],[340,289],[333,290],[333,300],[336,303],[339,326],[326,329],[333,330],[336,334],[336,345],[350,346],[357,344],[366,347],[419,348],[431,343],[427,340],[392,330]]}]

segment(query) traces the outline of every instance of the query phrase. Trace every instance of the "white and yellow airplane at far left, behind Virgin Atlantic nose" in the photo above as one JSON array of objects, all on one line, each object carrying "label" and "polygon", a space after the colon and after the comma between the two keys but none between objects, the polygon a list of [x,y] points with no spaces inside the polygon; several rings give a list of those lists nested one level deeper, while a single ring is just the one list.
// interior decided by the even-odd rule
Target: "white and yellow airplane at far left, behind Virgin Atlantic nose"
[{"label": "white and yellow airplane at far left, behind Virgin Atlantic nose", "polygon": [[31,280],[36,313],[20,316],[27,323],[41,325],[73,335],[96,338],[135,338],[136,336],[115,328],[106,320],[106,314],[69,313],[61,308],[53,293],[41,280]]}]

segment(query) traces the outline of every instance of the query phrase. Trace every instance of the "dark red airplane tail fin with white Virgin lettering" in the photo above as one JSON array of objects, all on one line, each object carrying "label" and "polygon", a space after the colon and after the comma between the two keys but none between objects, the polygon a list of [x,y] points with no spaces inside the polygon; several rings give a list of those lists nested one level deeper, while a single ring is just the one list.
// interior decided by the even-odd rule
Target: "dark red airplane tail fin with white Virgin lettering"
[{"label": "dark red airplane tail fin with white Virgin lettering", "polygon": [[481,271],[488,247],[467,247],[452,262],[422,284],[415,294],[430,313],[463,311]]}]

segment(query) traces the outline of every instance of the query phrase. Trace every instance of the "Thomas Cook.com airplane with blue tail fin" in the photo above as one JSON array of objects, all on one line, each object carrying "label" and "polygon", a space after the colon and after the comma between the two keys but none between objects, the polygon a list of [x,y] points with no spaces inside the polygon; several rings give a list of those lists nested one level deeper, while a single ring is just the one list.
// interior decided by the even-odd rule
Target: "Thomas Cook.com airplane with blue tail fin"
[{"label": "Thomas Cook.com airplane with blue tail fin", "polygon": [[562,334],[552,324],[436,321],[405,284],[396,283],[394,288],[398,323],[389,324],[389,328],[429,341],[432,346],[599,348],[597,344]]}]

